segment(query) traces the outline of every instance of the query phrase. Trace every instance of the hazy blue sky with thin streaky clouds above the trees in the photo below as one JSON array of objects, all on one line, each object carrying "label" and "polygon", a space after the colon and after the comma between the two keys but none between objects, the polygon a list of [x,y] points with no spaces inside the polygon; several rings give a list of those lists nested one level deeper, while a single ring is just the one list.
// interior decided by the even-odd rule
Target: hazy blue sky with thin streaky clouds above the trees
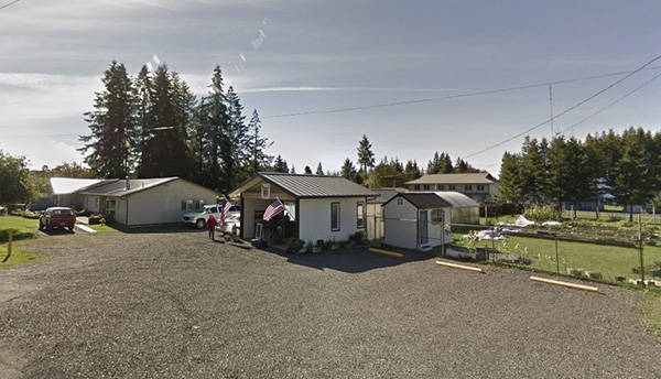
[{"label": "hazy blue sky with thin streaky clouds above the trees", "polygon": [[[661,54],[660,13],[657,1],[21,0],[0,10],[0,149],[34,167],[80,161],[77,138],[61,134],[87,131],[82,113],[115,58],[131,73],[167,63],[199,94],[220,64],[247,115],[262,115],[271,153],[299,172],[355,160],[364,133],[377,156],[425,165],[434,151],[465,156],[545,120],[549,89],[269,116],[631,71]],[[660,72],[631,77],[557,119],[556,130]],[[553,107],[561,111],[617,78],[556,85]],[[573,133],[660,130],[660,100],[661,79]],[[532,133],[550,134],[550,127]],[[521,140],[469,161],[498,174],[502,152]]]}]

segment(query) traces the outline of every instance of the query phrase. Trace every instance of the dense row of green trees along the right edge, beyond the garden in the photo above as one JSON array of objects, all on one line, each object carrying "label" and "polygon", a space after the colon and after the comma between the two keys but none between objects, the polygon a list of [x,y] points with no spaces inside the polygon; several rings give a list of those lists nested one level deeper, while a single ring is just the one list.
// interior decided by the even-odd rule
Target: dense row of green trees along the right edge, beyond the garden
[{"label": "dense row of green trees along the right edge, beyond the garden", "polygon": [[597,202],[609,194],[620,205],[649,204],[661,192],[661,133],[630,128],[588,134],[525,138],[521,151],[506,152],[500,199],[523,205]]}]

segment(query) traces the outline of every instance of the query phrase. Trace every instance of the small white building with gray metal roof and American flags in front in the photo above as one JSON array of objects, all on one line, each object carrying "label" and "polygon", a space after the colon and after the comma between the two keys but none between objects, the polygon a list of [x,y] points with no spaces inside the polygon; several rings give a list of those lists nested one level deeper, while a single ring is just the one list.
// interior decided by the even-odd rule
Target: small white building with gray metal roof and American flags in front
[{"label": "small white building with gray metal roof and American flags in front", "polygon": [[[230,193],[240,197],[241,238],[296,237],[305,242],[346,241],[366,229],[367,201],[373,192],[340,176],[260,172]],[[282,216],[263,220],[275,199]]]}]

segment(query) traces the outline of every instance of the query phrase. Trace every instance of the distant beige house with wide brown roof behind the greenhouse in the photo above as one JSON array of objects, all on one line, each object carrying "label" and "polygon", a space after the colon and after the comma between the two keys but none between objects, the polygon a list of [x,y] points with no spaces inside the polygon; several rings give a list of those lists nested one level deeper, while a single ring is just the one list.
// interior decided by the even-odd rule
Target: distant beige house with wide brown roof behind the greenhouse
[{"label": "distant beige house with wide brown roof behind the greenhouse", "polygon": [[478,203],[494,203],[500,182],[487,172],[429,174],[407,182],[410,191],[456,191]]}]

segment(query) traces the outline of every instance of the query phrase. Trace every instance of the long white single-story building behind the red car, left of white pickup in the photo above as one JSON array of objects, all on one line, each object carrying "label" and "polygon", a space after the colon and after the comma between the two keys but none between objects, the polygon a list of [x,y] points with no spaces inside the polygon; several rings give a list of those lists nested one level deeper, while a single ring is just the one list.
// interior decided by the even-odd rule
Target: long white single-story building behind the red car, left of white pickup
[{"label": "long white single-story building behind the red car, left of white pickup", "polygon": [[[84,181],[97,181],[84,182]],[[53,177],[59,206],[112,215],[126,226],[178,223],[182,215],[216,204],[216,192],[181,177],[77,180]]]}]

